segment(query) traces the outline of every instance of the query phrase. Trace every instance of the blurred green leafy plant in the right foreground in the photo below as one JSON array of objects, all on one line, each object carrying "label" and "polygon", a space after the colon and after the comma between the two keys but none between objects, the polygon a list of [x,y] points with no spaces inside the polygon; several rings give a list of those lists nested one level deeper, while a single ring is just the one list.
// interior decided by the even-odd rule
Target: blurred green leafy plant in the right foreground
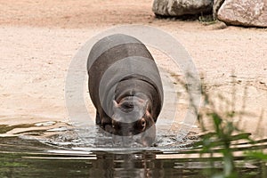
[{"label": "blurred green leafy plant in the right foreground", "polygon": [[[240,141],[246,141],[252,146],[257,143],[250,138],[251,134],[247,134],[239,129],[239,125],[237,124],[239,122],[234,122],[234,118],[240,120],[242,119],[242,116],[246,114],[247,87],[244,90],[241,111],[238,112],[235,109],[236,90],[234,78],[232,79],[231,84],[231,99],[224,97],[222,94],[217,94],[216,97],[213,97],[213,99],[219,99],[219,106],[214,104],[214,100],[212,100],[210,94],[206,92],[205,85],[202,85],[203,107],[199,112],[198,108],[195,108],[195,112],[198,113],[198,124],[200,125],[202,132],[205,133],[201,137],[202,141],[197,142],[195,147],[200,149],[199,152],[201,157],[206,154],[209,155],[211,169],[207,170],[205,174],[210,177],[239,177],[233,154],[235,151],[234,145],[236,142]],[[192,97],[190,97],[190,99],[191,98]],[[221,155],[220,158],[222,158],[221,162],[223,165],[223,171],[221,172],[214,173],[214,154]],[[250,158],[267,162],[267,155],[260,150],[245,151],[244,156],[245,159]],[[263,177],[265,175],[266,169],[263,168]]]}]

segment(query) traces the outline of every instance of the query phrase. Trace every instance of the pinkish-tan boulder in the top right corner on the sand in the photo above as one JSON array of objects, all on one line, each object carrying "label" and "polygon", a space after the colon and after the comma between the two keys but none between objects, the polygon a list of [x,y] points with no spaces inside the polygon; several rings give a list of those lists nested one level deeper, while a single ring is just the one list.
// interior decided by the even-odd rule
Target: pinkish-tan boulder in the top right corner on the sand
[{"label": "pinkish-tan boulder in the top right corner on the sand", "polygon": [[248,27],[267,27],[267,0],[225,0],[218,20]]}]

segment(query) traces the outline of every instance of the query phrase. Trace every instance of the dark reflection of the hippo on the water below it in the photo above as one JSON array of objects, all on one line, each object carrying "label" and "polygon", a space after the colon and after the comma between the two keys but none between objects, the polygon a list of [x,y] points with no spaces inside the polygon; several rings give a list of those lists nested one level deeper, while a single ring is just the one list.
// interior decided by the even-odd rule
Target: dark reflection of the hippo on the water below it
[{"label": "dark reflection of the hippo on the water below it", "polygon": [[110,154],[97,152],[89,171],[92,177],[164,177],[155,152]]}]

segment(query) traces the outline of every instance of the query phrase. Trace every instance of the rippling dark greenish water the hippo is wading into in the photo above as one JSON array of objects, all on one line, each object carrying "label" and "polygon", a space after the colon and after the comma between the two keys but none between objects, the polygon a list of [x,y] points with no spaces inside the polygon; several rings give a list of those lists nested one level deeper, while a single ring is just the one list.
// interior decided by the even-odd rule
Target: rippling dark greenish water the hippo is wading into
[{"label": "rippling dark greenish water the hippo is wading into", "polygon": [[[1,128],[4,134],[10,127],[2,125]],[[90,130],[95,134],[88,136],[87,142],[79,138],[75,130],[64,126],[41,131],[27,128],[17,136],[1,137],[0,177],[208,177],[210,158],[199,158],[199,150],[192,148],[199,141],[196,133],[190,132],[178,141],[171,132],[164,134],[164,129],[163,132],[159,129],[157,144],[131,149],[112,148],[109,138],[104,136],[99,143],[98,127],[93,125]],[[266,175],[266,163],[244,161],[239,154],[240,150],[256,147],[267,150],[267,140],[254,147],[248,142],[236,145],[234,154],[240,177]],[[213,158],[214,173],[223,170],[221,158],[220,155]]]}]

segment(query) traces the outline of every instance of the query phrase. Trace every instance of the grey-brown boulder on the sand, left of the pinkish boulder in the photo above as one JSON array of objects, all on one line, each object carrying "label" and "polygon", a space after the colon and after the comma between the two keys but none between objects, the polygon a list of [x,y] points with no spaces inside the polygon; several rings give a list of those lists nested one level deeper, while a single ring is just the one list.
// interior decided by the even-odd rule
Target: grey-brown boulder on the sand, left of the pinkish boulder
[{"label": "grey-brown boulder on the sand, left of the pinkish boulder", "polygon": [[152,11],[156,15],[182,16],[212,12],[213,0],[154,0]]}]

